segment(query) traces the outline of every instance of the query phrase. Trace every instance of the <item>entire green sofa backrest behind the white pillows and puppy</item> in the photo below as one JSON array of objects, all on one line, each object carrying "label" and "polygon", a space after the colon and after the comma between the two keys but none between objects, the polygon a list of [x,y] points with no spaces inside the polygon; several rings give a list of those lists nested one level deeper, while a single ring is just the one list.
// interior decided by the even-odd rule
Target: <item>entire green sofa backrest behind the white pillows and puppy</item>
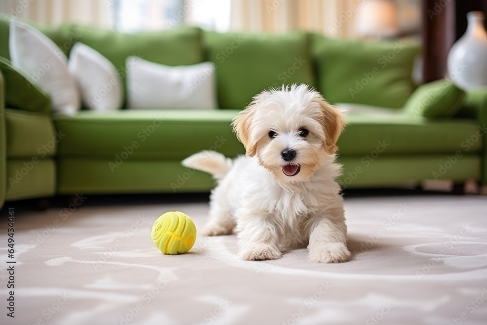
[{"label": "entire green sofa backrest behind the white pillows and puppy", "polygon": [[[0,15],[0,56],[9,58],[9,16]],[[332,104],[400,108],[415,88],[417,44],[363,42],[310,33],[216,33],[196,27],[127,34],[75,24],[31,23],[67,54],[83,42],[107,57],[122,77],[131,55],[166,65],[211,61],[222,109],[243,109],[264,89],[306,83]]]}]

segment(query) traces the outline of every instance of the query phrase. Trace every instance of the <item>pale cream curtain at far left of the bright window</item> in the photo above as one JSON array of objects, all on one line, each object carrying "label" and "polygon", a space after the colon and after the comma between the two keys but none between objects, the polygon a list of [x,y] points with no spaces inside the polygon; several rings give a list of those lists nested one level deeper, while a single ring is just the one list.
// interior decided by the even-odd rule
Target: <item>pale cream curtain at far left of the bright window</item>
[{"label": "pale cream curtain at far left of the bright window", "polygon": [[0,12],[49,24],[71,21],[111,27],[117,0],[1,0]]}]

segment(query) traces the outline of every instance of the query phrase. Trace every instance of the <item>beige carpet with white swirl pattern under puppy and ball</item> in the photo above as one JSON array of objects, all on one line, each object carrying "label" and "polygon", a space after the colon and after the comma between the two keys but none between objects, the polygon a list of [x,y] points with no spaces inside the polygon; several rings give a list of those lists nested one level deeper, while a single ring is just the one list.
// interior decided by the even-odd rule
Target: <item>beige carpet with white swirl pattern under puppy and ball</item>
[{"label": "beige carpet with white swirl pattern under puppy and ball", "polygon": [[487,324],[485,197],[345,202],[354,256],[335,265],[307,262],[304,249],[240,261],[234,235],[162,255],[150,240],[153,221],[181,210],[201,229],[204,203],[19,212],[15,319],[5,308],[12,259],[4,212],[0,323]]}]

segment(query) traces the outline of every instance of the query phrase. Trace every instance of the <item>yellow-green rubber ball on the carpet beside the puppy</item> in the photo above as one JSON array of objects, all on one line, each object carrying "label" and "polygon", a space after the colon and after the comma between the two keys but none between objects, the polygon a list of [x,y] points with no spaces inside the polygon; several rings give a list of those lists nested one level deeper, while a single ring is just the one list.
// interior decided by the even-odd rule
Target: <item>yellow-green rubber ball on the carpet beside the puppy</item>
[{"label": "yellow-green rubber ball on the carpet beside the puppy", "polygon": [[154,222],[150,236],[163,254],[184,254],[196,241],[196,225],[183,212],[166,212]]}]

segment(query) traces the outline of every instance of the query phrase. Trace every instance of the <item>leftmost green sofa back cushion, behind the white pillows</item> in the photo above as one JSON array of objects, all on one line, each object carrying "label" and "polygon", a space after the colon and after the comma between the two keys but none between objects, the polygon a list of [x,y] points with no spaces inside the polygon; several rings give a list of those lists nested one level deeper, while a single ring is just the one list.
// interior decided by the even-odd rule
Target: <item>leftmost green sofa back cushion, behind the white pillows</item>
[{"label": "leftmost green sofa back cushion, behind the white pillows", "polygon": [[[100,52],[117,69],[124,91],[127,75],[125,60],[129,56],[139,56],[152,62],[171,66],[191,65],[203,61],[202,31],[196,27],[128,34],[76,24],[62,24],[54,27],[31,21],[28,23],[51,38],[68,56],[76,42],[82,42]],[[6,58],[9,58],[8,33],[9,17],[2,15],[0,19],[0,56]]]}]

